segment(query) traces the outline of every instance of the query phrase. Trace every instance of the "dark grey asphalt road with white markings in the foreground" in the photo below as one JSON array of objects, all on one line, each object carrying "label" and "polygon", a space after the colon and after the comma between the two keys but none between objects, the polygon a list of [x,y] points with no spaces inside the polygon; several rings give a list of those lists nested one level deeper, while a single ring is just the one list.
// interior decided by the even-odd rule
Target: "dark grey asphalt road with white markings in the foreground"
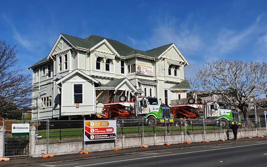
[{"label": "dark grey asphalt road with white markings in the foreground", "polygon": [[96,158],[83,161],[51,163],[31,167],[53,166],[267,167],[267,140],[231,143],[213,147],[137,153],[132,155]]}]

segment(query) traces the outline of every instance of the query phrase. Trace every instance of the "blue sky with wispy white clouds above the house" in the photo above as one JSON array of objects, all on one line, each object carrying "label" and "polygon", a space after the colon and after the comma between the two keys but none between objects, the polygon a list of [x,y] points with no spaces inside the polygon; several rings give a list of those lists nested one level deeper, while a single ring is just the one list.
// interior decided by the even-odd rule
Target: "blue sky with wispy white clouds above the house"
[{"label": "blue sky with wispy white clouds above the house", "polygon": [[58,35],[92,34],[139,50],[175,43],[193,79],[206,61],[267,61],[267,1],[3,1],[0,39],[18,44],[27,67],[49,54]]}]

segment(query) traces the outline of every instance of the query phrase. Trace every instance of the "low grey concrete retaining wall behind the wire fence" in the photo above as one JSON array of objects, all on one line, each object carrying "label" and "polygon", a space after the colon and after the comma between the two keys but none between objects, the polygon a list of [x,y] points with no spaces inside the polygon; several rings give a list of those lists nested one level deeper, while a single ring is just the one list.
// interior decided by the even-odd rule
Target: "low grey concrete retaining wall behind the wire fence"
[{"label": "low grey concrete retaining wall behind the wire fence", "polygon": [[[0,129],[1,131],[1,129]],[[35,129],[31,128],[31,135],[35,134]],[[257,136],[257,135],[266,135],[266,129],[261,128],[246,128],[239,129],[238,138],[244,138],[245,136]],[[0,133],[1,137],[1,133]],[[54,139],[49,140],[49,145],[47,145],[47,140],[33,140],[33,137],[30,137],[30,155],[33,157],[41,157],[42,154],[52,153],[54,155],[65,155],[78,153],[81,150],[87,150],[89,152],[96,151],[105,151],[112,150],[114,148],[134,148],[139,145],[163,145],[165,142],[170,144],[179,144],[184,141],[191,142],[200,142],[204,139],[209,141],[217,141],[218,139],[227,139],[232,138],[233,133],[230,130],[223,130],[222,133],[220,130],[208,130],[206,131],[206,138],[204,138],[203,131],[188,131],[187,134],[182,132],[169,132],[167,137],[164,133],[145,133],[142,140],[142,133],[140,134],[126,134],[126,135],[117,135],[116,141],[110,142],[100,142],[93,141],[91,143],[84,143],[83,138],[68,138],[68,139]],[[48,147],[47,147],[48,146]],[[48,150],[47,150],[48,148]],[[0,147],[1,149],[1,147]]]}]

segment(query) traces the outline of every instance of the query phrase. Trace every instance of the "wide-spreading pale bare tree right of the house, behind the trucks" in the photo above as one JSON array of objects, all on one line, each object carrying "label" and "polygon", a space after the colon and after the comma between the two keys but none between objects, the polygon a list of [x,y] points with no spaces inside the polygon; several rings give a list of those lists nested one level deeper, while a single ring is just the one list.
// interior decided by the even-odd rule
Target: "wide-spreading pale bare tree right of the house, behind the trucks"
[{"label": "wide-spreading pale bare tree right of the house, behind the trucks", "polygon": [[220,59],[203,66],[195,81],[199,91],[218,95],[218,100],[239,108],[247,118],[247,104],[266,93],[267,63]]}]

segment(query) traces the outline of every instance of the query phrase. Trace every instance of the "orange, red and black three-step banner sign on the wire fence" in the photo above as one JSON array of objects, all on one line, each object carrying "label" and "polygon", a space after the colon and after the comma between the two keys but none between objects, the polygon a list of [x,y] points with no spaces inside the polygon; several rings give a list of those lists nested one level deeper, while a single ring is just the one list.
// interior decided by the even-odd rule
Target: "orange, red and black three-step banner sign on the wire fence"
[{"label": "orange, red and black three-step banner sign on the wire fence", "polygon": [[85,120],[84,141],[115,140],[116,120]]}]

